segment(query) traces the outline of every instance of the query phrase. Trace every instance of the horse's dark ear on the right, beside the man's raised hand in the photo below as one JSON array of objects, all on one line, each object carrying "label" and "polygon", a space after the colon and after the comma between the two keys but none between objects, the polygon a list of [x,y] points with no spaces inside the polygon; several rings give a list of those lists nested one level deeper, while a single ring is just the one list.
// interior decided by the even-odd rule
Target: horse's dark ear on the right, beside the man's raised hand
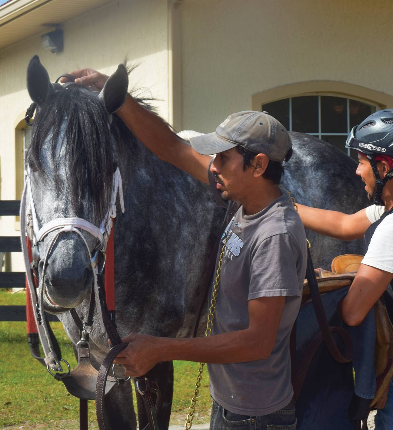
[{"label": "horse's dark ear on the right, beside the man's raised hand", "polygon": [[128,90],[128,74],[123,64],[119,64],[118,70],[105,82],[99,97],[105,104],[106,110],[113,114],[124,104]]}]

